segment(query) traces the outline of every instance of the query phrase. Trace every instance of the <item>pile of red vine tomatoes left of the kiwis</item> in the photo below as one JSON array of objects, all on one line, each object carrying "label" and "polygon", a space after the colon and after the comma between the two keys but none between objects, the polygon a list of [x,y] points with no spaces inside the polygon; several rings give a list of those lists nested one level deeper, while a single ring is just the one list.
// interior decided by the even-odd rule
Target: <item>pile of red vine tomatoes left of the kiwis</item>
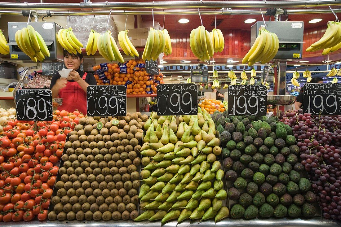
[{"label": "pile of red vine tomatoes left of the kiwis", "polygon": [[0,221],[46,220],[66,135],[84,117],[55,111],[51,122],[9,121],[0,135]]}]

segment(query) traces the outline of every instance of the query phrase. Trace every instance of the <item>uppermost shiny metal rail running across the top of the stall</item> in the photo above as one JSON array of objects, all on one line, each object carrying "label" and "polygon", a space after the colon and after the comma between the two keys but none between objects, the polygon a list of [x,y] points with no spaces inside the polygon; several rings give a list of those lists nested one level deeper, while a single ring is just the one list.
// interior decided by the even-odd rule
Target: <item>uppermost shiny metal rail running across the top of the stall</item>
[{"label": "uppermost shiny metal rail running across the top of the stall", "polygon": [[1,2],[0,10],[103,10],[103,9],[180,9],[180,8],[259,8],[340,6],[340,0],[280,1],[149,1],[149,2],[81,2],[81,3],[12,3]]}]

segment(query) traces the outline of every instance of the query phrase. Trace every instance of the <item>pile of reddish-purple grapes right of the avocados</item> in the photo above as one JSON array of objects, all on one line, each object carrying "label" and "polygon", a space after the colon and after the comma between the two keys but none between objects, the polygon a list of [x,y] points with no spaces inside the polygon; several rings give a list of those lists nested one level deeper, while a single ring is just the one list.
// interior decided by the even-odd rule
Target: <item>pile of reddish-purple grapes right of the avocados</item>
[{"label": "pile of reddish-purple grapes right of the avocados", "polygon": [[323,216],[341,220],[341,116],[314,118],[294,110],[280,120],[293,129]]}]

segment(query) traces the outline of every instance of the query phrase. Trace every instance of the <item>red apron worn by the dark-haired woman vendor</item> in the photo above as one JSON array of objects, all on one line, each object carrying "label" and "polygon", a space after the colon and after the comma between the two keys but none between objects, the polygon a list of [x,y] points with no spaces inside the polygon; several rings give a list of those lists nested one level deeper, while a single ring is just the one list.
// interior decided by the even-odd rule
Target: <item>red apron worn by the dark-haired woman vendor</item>
[{"label": "red apron worn by the dark-haired woman vendor", "polygon": [[[85,80],[87,73],[84,73],[82,79]],[[86,115],[86,92],[78,85],[77,82],[70,82],[66,87],[60,89],[59,97],[63,99],[63,104],[58,107],[58,110],[66,110],[73,112],[76,109]]]}]

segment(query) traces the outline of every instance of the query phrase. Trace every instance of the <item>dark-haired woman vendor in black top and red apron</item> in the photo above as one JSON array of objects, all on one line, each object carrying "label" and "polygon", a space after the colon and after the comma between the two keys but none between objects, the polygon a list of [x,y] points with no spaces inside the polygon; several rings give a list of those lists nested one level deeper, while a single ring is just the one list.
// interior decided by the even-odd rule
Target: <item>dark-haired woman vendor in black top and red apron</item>
[{"label": "dark-haired woman vendor in black top and red apron", "polygon": [[60,75],[57,74],[52,77],[50,86],[52,97],[63,99],[63,104],[58,107],[58,110],[73,112],[77,109],[86,115],[86,89],[89,85],[97,85],[97,82],[93,74],[79,69],[82,63],[82,54],[70,54],[67,50],[64,50],[64,64],[66,68],[72,69],[69,80],[60,78]]}]

